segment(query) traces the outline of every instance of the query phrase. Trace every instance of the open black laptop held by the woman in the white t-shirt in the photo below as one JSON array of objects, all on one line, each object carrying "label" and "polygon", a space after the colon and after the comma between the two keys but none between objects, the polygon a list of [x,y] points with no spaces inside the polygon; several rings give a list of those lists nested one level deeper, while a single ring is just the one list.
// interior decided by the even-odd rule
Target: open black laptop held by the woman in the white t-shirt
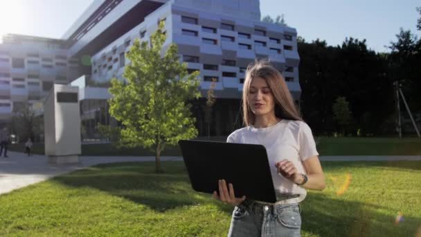
[{"label": "open black laptop held by the woman in the white t-shirt", "polygon": [[276,202],[264,146],[196,140],[180,140],[179,146],[195,191],[213,193],[218,180],[225,179],[237,198]]}]

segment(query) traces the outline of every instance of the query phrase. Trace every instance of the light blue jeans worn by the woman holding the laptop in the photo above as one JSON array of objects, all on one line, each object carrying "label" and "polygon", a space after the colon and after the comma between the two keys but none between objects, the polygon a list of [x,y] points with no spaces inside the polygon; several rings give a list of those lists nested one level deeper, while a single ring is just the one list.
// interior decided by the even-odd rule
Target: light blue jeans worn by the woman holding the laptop
[{"label": "light blue jeans worn by the woman holding the laptop", "polygon": [[298,204],[261,204],[244,200],[234,208],[228,236],[301,236]]}]

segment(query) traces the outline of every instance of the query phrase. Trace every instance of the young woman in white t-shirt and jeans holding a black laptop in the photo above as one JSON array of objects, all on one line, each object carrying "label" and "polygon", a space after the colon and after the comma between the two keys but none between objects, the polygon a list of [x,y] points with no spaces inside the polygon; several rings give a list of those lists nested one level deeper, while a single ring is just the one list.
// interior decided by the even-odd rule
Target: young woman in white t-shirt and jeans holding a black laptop
[{"label": "young woman in white t-shirt and jeans holding a black laptop", "polygon": [[243,89],[245,128],[227,142],[262,144],[267,150],[278,202],[235,198],[232,184],[219,182],[214,198],[235,206],[229,236],[301,236],[298,203],[305,189],[323,190],[325,179],[310,127],[298,114],[283,76],[269,62],[247,68]]}]

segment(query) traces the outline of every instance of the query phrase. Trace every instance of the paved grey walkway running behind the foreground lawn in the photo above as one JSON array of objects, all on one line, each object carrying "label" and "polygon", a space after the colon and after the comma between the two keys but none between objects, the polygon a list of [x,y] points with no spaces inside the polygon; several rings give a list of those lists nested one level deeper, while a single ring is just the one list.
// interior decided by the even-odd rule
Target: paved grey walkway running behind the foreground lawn
[{"label": "paved grey walkway running behind the foreground lawn", "polygon": [[[155,157],[80,157],[80,164],[55,166],[48,164],[45,155],[28,157],[21,152],[8,152],[9,157],[0,158],[0,195],[17,188],[42,182],[56,175],[69,173],[73,170],[94,166],[96,164],[154,161]],[[320,157],[321,161],[396,161],[418,160],[421,156],[339,156]],[[161,157],[162,161],[181,161],[181,157]]]}]

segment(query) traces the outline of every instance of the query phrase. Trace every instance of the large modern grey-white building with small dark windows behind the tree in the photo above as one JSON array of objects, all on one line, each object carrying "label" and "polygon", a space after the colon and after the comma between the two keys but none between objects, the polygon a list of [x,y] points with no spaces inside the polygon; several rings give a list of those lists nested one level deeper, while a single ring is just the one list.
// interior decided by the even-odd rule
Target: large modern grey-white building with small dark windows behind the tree
[{"label": "large modern grey-white building with small dark windows behind the tree", "polygon": [[[10,35],[21,44],[16,46],[6,40],[0,45],[0,95],[4,95],[0,113],[7,117],[15,103],[34,98],[29,82],[31,87],[39,82],[39,97],[51,87],[48,82],[71,82],[80,87],[82,126],[88,135],[95,134],[97,123],[113,121],[106,101],[110,97],[109,80],[123,80],[124,67],[129,63],[125,53],[134,40],[149,41],[161,21],[165,21],[167,35],[164,49],[177,44],[180,60],[188,62],[189,70],[200,71],[204,97],[212,78],[217,79],[211,134],[229,134],[241,126],[238,112],[244,71],[256,58],[269,58],[299,101],[296,29],[260,21],[258,0],[96,0],[62,40],[33,37],[34,42],[44,44],[37,43],[38,48],[30,49],[35,44],[26,41],[30,37]],[[51,45],[55,48],[51,49]],[[32,64],[35,60],[36,67]],[[33,78],[35,73],[38,78]],[[59,80],[64,76],[66,80]],[[17,89],[21,89],[19,96]],[[195,101],[193,106],[202,135],[206,133],[205,100]]]}]

